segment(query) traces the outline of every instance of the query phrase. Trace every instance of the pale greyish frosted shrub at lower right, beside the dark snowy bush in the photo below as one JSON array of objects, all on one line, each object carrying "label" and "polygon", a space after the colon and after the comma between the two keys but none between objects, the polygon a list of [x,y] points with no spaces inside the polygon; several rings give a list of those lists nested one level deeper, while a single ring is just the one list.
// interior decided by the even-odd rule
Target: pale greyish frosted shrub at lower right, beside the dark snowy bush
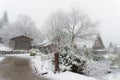
[{"label": "pale greyish frosted shrub at lower right, beside the dark snowy bush", "polygon": [[99,77],[110,72],[110,63],[108,61],[89,60],[84,70],[86,75]]}]

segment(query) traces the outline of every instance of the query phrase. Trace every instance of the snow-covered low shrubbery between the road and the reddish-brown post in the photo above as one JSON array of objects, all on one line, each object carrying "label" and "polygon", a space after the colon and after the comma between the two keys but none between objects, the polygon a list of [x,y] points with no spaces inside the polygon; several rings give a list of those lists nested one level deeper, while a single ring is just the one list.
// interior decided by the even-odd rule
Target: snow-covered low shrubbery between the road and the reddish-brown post
[{"label": "snow-covered low shrubbery between the road and the reddish-brown post", "polygon": [[36,69],[37,74],[53,72],[53,64],[49,56],[41,55],[41,56],[33,56],[32,57],[32,66]]}]

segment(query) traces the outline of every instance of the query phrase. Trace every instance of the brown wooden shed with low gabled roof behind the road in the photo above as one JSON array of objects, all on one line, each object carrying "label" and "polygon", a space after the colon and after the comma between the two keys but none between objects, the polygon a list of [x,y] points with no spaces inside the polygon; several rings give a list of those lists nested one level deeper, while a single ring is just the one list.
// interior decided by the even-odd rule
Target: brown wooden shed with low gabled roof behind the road
[{"label": "brown wooden shed with low gabled roof behind the road", "polygon": [[14,50],[29,50],[33,39],[25,35],[13,37],[10,39],[10,47]]}]

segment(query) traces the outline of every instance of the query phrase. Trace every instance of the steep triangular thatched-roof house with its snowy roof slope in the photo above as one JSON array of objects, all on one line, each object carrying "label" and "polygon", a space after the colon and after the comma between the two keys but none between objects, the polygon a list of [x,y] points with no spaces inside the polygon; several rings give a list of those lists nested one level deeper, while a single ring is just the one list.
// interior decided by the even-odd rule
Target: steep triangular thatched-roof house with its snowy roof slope
[{"label": "steep triangular thatched-roof house with its snowy roof slope", "polygon": [[86,46],[91,49],[93,53],[106,53],[107,49],[105,48],[104,42],[100,34],[91,36],[91,40],[81,40],[77,41],[77,44],[80,47]]}]

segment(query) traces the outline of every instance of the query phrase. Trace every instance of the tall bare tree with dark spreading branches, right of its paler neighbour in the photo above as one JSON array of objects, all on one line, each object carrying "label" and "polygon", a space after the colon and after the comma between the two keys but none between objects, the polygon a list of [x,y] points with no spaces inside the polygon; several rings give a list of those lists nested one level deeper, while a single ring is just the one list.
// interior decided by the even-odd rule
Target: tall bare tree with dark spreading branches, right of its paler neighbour
[{"label": "tall bare tree with dark spreading branches, right of its paler neighbour", "polygon": [[68,23],[66,29],[71,36],[71,45],[75,39],[90,39],[96,34],[95,27],[98,23],[93,23],[89,17],[84,14],[79,8],[71,8],[68,12]]}]

